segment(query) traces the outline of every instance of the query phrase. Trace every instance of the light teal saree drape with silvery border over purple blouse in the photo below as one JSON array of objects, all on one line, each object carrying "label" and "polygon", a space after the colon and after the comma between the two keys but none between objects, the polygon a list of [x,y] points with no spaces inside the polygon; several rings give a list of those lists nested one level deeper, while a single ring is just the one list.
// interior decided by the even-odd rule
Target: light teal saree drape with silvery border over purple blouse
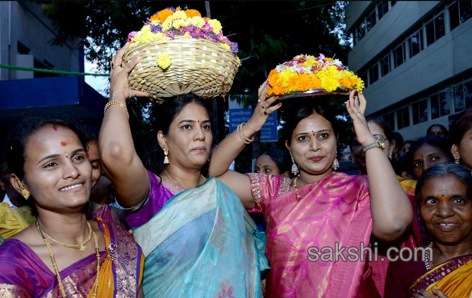
[{"label": "light teal saree drape with silvery border over purple blouse", "polygon": [[172,197],[133,234],[146,255],[146,297],[259,297],[255,229],[236,194],[218,179]]}]

